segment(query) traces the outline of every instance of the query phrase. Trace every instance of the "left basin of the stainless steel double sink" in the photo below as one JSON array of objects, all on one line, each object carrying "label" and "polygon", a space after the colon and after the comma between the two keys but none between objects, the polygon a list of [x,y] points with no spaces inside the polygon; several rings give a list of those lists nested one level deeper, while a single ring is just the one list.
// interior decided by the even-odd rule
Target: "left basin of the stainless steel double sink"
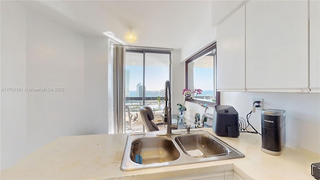
[{"label": "left basin of the stainless steel double sink", "polygon": [[[141,137],[132,141],[134,143],[140,143],[140,155],[143,157],[142,164],[150,164],[155,162],[167,162],[179,158],[180,152],[174,146],[173,142],[169,138],[165,137]],[[135,153],[135,152],[131,152]],[[134,161],[135,156],[131,154],[131,160]]]}]

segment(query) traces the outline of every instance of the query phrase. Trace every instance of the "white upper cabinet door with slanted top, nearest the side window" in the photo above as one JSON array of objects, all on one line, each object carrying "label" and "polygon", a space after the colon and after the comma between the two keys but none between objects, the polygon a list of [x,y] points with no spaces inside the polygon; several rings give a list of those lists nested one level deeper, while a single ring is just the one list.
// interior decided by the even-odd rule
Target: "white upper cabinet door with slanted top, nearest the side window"
[{"label": "white upper cabinet door with slanted top, nearest the side window", "polygon": [[245,6],[217,26],[216,88],[245,90]]}]

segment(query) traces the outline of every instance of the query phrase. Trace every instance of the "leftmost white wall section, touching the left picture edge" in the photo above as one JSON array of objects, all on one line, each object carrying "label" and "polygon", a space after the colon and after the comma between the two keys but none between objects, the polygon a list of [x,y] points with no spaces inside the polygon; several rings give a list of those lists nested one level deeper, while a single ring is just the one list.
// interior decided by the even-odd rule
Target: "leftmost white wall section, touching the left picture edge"
[{"label": "leftmost white wall section, touching the left picture edge", "polygon": [[[26,86],[26,11],[1,1],[0,88]],[[1,91],[1,169],[26,155],[26,92]]]}]

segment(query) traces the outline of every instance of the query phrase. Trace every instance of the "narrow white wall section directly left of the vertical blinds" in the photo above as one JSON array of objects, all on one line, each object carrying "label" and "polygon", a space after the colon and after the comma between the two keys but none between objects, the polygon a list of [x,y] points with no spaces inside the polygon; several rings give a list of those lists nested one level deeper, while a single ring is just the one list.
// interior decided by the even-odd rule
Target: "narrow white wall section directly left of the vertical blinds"
[{"label": "narrow white wall section directly left of the vertical blinds", "polygon": [[84,38],[83,133],[108,133],[108,39]]}]

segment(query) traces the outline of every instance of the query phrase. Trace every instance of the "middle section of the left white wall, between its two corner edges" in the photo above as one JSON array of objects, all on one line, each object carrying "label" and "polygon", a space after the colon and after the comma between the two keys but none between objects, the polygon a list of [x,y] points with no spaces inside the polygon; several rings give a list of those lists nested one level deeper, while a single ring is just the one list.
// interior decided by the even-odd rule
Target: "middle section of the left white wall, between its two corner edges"
[{"label": "middle section of the left white wall, between its two corner edges", "polygon": [[28,152],[61,135],[82,134],[83,37],[37,14],[26,17],[26,87],[64,88],[27,92]]}]

